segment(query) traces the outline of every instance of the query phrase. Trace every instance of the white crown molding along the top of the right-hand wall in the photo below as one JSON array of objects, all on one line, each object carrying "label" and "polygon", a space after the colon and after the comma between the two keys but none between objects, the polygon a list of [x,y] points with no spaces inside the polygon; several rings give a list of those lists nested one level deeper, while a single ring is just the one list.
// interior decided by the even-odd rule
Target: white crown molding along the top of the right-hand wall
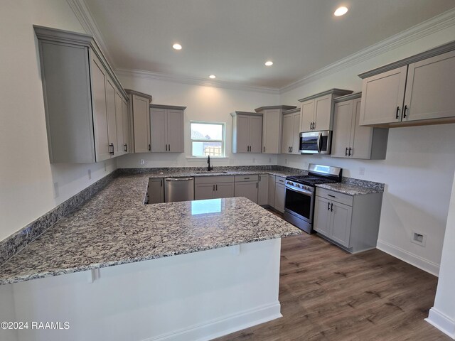
[{"label": "white crown molding along the top of the right-hand wall", "polygon": [[422,23],[412,26],[405,31],[382,40],[379,43],[370,45],[368,48],[364,48],[363,50],[353,53],[352,55],[348,55],[348,57],[338,60],[335,63],[329,64],[326,67],[316,70],[315,72],[311,72],[309,75],[304,76],[300,80],[281,87],[279,89],[279,93],[282,94],[284,92],[294,90],[297,87],[301,87],[302,85],[313,82],[314,80],[318,80],[321,77],[331,75],[332,73],[343,70],[346,67],[361,63],[364,60],[368,60],[377,55],[381,55],[382,53],[386,53],[387,51],[394,50],[402,45],[406,45],[414,40],[429,36],[432,33],[454,25],[455,9],[450,9],[449,11],[445,11],[438,16],[434,16],[427,21],[423,21]]}]

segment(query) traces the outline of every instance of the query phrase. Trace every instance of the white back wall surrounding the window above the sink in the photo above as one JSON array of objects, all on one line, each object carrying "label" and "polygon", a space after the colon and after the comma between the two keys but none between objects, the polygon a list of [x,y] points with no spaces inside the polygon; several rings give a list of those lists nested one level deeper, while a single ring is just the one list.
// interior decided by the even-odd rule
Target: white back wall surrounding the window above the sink
[{"label": "white back wall surrounding the window above the sink", "polygon": [[[187,107],[185,110],[185,153],[138,153],[121,156],[117,161],[119,168],[132,167],[198,167],[207,166],[203,161],[191,156],[190,121],[216,121],[226,124],[225,159],[212,159],[213,166],[274,165],[274,154],[231,153],[232,117],[231,112],[240,110],[254,112],[255,108],[279,104],[278,94],[232,90],[218,87],[188,85],[146,77],[127,77],[119,75],[122,85],[146,94],[151,94],[154,104],[171,104]],[[145,164],[140,165],[143,159]]]}]

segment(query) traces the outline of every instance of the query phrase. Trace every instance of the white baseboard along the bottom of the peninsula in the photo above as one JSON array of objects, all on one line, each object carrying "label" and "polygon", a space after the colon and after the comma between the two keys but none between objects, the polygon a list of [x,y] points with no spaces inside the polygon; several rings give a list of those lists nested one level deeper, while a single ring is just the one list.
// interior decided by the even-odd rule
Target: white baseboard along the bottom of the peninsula
[{"label": "white baseboard along the bottom of the peninsula", "polygon": [[259,325],[276,318],[281,318],[281,305],[279,302],[270,305],[262,305],[255,309],[244,310],[235,315],[227,315],[223,318],[210,320],[206,323],[192,325],[188,328],[174,330],[163,335],[151,337],[143,341],[187,341],[213,340],[216,337],[228,335],[231,332],[237,332],[245,328]]}]

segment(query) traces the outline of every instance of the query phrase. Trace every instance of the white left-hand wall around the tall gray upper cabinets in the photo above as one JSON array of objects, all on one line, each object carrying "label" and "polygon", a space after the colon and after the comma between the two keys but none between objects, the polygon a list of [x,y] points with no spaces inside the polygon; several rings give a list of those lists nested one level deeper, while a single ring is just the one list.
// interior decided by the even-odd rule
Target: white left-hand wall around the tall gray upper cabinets
[{"label": "white left-hand wall around the tall gray upper cabinets", "polygon": [[66,1],[1,3],[0,240],[116,168],[115,161],[106,171],[104,164],[50,165],[33,24],[84,32]]}]

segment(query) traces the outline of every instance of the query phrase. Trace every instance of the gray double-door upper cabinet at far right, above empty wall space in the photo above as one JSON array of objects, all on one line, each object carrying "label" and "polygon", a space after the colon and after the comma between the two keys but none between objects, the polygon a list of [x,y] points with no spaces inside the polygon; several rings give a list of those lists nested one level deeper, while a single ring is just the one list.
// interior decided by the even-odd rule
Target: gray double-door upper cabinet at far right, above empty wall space
[{"label": "gray double-door upper cabinet at far right, above empty wall space", "polygon": [[360,125],[455,121],[455,42],[364,72]]}]

